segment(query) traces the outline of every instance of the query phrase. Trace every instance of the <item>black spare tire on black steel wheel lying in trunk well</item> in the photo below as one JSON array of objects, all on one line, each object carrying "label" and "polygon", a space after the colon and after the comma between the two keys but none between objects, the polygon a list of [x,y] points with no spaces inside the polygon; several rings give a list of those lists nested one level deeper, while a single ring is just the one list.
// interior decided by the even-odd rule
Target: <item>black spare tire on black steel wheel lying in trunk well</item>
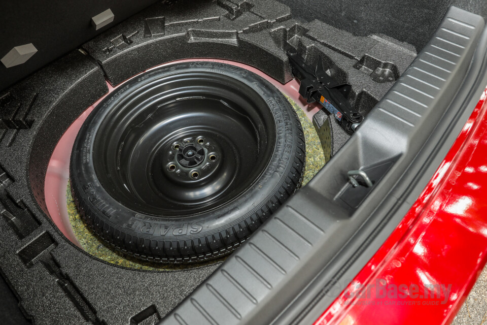
[{"label": "black spare tire on black steel wheel lying in trunk well", "polygon": [[230,64],[138,75],[88,116],[71,155],[80,215],[116,249],[197,262],[234,250],[298,187],[304,135],[283,94]]}]

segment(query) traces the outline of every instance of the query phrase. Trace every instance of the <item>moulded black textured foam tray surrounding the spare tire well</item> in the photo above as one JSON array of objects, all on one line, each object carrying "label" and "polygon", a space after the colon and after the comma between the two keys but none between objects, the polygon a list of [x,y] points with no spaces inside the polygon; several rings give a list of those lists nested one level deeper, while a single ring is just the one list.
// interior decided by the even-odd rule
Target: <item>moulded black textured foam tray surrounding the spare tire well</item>
[{"label": "moulded black textured foam tray surrounding the spare tire well", "polygon": [[213,57],[284,83],[292,78],[288,47],[312,64],[322,57],[332,77],[352,84],[350,102],[364,114],[415,57],[412,46],[385,35],[356,37],[319,20],[295,20],[274,0],[180,1],[149,7],[84,44],[88,55],[74,51],[0,92],[0,271],[24,314],[36,324],[155,321],[218,267],[109,265],[69,243],[47,216],[51,153],[67,126],[107,92],[106,79],[116,85],[160,63]]}]

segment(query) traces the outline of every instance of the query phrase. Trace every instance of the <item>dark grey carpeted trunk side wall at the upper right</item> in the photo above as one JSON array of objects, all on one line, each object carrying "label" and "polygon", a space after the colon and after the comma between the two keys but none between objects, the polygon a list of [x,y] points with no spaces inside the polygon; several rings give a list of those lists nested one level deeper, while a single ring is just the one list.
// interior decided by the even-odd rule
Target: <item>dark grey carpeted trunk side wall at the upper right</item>
[{"label": "dark grey carpeted trunk side wall at the upper right", "polygon": [[296,18],[328,22],[357,36],[385,34],[420,51],[429,41],[449,6],[487,18],[483,0],[280,0]]}]

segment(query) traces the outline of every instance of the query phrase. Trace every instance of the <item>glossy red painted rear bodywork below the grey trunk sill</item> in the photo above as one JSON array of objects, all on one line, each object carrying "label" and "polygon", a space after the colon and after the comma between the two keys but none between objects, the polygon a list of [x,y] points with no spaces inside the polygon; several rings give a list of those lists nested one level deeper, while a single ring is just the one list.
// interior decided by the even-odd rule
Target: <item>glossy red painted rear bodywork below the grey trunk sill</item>
[{"label": "glossy red painted rear bodywork below the grey trunk sill", "polygon": [[[315,325],[453,321],[487,262],[486,96],[487,89],[404,219]],[[380,298],[374,290],[369,297],[351,295],[377,280],[416,284],[420,294],[428,284],[451,284],[451,291],[437,299],[413,299],[408,290],[402,299]]]}]

